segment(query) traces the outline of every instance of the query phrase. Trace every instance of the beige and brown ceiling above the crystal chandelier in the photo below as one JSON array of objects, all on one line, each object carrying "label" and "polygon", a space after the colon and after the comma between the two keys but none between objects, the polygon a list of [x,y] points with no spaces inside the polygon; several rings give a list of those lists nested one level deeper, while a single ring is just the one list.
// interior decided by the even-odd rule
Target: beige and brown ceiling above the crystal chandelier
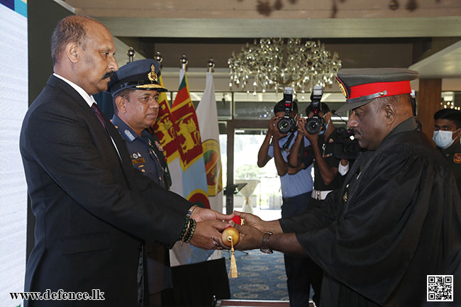
[{"label": "beige and brown ceiling above the crystal chandelier", "polygon": [[[61,0],[55,0],[58,3]],[[420,77],[461,78],[461,1],[394,0],[66,0],[74,13],[103,22],[119,62],[160,50],[163,67],[226,68],[232,51],[256,38],[322,40],[343,67],[411,67]],[[122,48],[122,50],[120,50]],[[165,69],[167,71],[168,69]],[[460,85],[461,89],[461,85]]]}]

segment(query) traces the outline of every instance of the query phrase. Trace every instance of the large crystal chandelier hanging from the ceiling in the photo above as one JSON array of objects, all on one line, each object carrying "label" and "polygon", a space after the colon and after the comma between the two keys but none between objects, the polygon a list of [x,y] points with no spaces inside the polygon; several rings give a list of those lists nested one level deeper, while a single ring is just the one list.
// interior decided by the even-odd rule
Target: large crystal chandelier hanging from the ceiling
[{"label": "large crystal chandelier hanging from the ceiling", "polygon": [[[228,60],[230,83],[241,89],[247,89],[250,77],[253,79],[253,94],[257,89],[263,93],[268,89],[283,89],[291,86],[295,91],[304,93],[315,85],[322,87],[332,84],[341,68],[338,53],[325,50],[320,41],[311,40],[301,43],[301,38],[289,38],[287,50],[284,50],[283,38],[262,38],[257,44],[247,43],[242,51]],[[250,90],[247,89],[247,93]]]}]

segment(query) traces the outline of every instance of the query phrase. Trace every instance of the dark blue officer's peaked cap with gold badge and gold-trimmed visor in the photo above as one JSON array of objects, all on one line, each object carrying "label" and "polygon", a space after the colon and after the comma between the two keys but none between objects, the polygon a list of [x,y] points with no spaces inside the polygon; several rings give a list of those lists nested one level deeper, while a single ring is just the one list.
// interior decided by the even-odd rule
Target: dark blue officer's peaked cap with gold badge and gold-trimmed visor
[{"label": "dark blue officer's peaked cap with gold badge and gold-trimmed visor", "polygon": [[113,74],[107,89],[111,95],[115,95],[123,89],[143,89],[151,91],[167,91],[159,83],[160,63],[143,59],[129,62]]}]

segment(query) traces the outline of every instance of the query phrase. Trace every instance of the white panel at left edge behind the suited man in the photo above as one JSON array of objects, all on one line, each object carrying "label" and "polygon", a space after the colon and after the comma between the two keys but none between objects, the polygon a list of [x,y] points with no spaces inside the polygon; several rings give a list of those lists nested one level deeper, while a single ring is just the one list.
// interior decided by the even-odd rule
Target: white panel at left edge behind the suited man
[{"label": "white panel at left edge behind the suited man", "polygon": [[27,18],[0,4],[0,306],[22,306],[27,186],[19,133],[28,108]]}]

